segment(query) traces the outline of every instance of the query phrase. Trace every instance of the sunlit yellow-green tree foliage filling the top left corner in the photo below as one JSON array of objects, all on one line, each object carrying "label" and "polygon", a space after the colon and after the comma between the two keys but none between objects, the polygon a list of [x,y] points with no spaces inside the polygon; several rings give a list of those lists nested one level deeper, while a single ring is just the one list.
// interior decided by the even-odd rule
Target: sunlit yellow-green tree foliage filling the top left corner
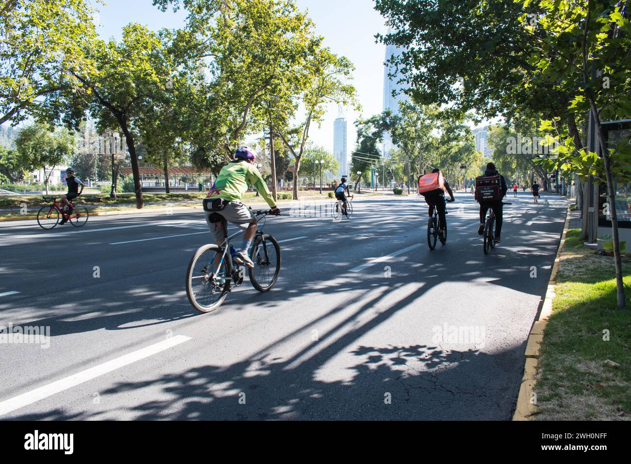
[{"label": "sunlit yellow-green tree foliage filling the top left corner", "polygon": [[96,33],[84,0],[0,4],[0,125],[40,116],[40,99],[80,85],[69,68],[93,69],[86,44]]}]

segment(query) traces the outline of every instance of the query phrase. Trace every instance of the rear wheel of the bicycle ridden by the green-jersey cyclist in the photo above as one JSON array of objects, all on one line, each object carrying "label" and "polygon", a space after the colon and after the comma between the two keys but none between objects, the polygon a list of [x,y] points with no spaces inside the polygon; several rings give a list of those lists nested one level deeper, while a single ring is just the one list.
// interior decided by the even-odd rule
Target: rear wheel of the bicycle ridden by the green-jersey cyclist
[{"label": "rear wheel of the bicycle ridden by the green-jersey cyclist", "polygon": [[201,312],[215,311],[230,291],[232,263],[227,253],[221,265],[223,249],[215,244],[198,248],[186,271],[186,296],[192,307]]}]

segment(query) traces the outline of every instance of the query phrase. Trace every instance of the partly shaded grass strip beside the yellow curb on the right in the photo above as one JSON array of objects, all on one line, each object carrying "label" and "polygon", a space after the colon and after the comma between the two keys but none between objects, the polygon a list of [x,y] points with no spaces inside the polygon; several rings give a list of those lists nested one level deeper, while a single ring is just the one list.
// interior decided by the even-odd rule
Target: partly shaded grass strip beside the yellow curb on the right
[{"label": "partly shaded grass strip beside the yellow curb on the right", "polygon": [[[631,286],[628,261],[625,287]],[[631,419],[631,312],[616,305],[613,258],[594,254],[583,246],[580,230],[570,229],[556,280],[541,344],[536,419]],[[627,288],[631,307],[629,295]]]}]

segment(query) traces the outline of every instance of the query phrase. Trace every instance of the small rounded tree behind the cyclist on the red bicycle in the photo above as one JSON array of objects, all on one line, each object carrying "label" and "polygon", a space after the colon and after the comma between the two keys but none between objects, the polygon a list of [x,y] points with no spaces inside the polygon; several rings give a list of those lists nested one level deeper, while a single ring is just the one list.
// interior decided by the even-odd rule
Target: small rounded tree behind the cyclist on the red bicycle
[{"label": "small rounded tree behind the cyclist on the red bicycle", "polygon": [[32,169],[44,169],[44,184],[48,194],[53,169],[74,154],[76,140],[74,133],[66,128],[59,128],[52,133],[44,124],[35,123],[20,130],[15,145],[24,165]]}]

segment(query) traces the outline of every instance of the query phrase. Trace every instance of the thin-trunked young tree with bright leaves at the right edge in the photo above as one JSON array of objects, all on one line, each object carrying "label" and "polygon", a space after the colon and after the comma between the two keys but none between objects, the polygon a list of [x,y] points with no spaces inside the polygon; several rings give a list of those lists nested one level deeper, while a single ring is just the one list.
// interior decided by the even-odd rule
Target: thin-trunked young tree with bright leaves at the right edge
[{"label": "thin-trunked young tree with bright leaves at the right edge", "polygon": [[[522,2],[524,8],[530,3],[529,0]],[[631,113],[631,81],[628,79],[631,56],[622,52],[631,50],[631,12],[625,6],[613,0],[536,1],[531,8],[540,19],[528,28],[539,45],[529,59],[536,68],[533,83],[569,92],[572,100],[567,110],[589,110],[594,118],[602,159],[596,153],[582,152],[582,146],[577,143],[572,150],[570,138],[566,138],[565,144],[557,150],[560,161],[552,164],[575,169],[583,176],[596,175],[607,186],[618,307],[626,306],[626,297],[613,179],[631,179],[631,138],[615,147],[606,146],[601,118],[616,119]],[[596,71],[601,71],[601,78],[592,77]],[[550,121],[543,122],[542,126],[552,129]]]}]

